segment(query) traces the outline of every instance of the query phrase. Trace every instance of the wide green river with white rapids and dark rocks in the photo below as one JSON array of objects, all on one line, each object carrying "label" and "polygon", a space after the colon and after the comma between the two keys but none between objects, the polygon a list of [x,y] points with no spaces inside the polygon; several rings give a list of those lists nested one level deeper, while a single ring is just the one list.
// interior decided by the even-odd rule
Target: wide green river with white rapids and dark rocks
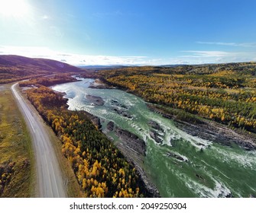
[{"label": "wide green river with white rapids and dark rocks", "polygon": [[[140,97],[118,89],[89,88],[93,79],[80,80],[53,86],[53,90],[66,93],[69,110],[86,110],[98,116],[103,132],[106,124],[112,121],[143,139],[147,145],[143,167],[160,196],[256,195],[256,151],[245,151],[237,145],[228,147],[189,135],[177,129],[172,120],[148,110]],[[93,105],[86,95],[102,97],[105,103]],[[158,129],[152,127],[152,122]],[[152,138],[152,132],[159,141]],[[115,138],[113,132],[106,134]]]}]

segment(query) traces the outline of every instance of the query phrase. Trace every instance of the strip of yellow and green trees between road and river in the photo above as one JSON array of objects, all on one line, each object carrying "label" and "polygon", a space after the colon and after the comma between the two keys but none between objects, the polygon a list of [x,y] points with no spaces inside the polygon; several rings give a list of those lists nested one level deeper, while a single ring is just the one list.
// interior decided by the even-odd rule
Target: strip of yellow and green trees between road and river
[{"label": "strip of yellow and green trees between road and river", "polygon": [[86,112],[67,110],[62,94],[38,81],[37,87],[27,90],[27,95],[62,141],[62,152],[70,161],[85,197],[146,196],[137,170],[99,132]]}]

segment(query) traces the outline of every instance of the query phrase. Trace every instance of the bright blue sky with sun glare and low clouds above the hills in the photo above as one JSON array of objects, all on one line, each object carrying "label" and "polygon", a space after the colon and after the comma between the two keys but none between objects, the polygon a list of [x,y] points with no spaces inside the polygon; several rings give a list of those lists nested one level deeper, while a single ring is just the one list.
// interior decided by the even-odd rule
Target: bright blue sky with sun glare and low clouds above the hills
[{"label": "bright blue sky with sun glare and low clouds above the hills", "polygon": [[255,0],[0,0],[0,55],[72,65],[256,61]]}]

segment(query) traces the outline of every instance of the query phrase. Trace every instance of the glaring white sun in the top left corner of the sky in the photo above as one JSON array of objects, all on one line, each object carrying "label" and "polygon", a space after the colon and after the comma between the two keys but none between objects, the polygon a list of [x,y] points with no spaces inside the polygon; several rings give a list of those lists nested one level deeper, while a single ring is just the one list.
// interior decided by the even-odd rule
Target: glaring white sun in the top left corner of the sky
[{"label": "glaring white sun in the top left corner of the sky", "polygon": [[28,13],[26,0],[0,0],[0,15],[5,17],[23,17]]}]

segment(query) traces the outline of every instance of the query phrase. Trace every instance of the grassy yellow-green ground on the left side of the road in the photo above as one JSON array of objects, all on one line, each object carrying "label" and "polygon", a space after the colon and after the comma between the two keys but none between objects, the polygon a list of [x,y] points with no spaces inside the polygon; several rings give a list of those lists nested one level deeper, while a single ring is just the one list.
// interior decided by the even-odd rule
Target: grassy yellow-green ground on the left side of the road
[{"label": "grassy yellow-green ground on the left side of the road", "polygon": [[5,84],[0,89],[0,197],[34,196],[34,157],[23,117]]}]

